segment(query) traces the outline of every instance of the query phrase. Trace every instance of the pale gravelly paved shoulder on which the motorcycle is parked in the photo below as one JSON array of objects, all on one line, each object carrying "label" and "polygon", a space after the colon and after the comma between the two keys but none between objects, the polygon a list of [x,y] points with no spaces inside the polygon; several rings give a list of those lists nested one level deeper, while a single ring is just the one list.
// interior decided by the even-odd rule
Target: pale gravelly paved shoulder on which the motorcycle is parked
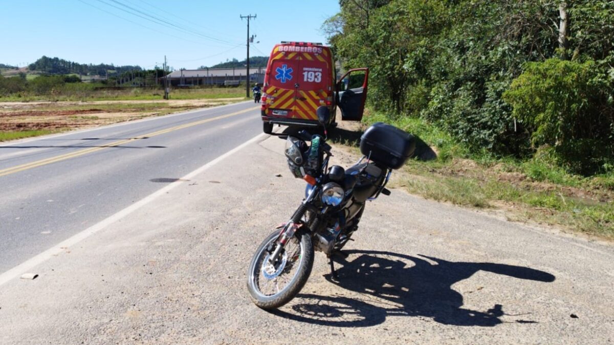
[{"label": "pale gravelly paved shoulder on which the motorcycle is parked", "polygon": [[[305,187],[282,149],[259,136],[20,266],[38,277],[0,285],[0,343],[614,341],[612,244],[402,190],[367,205],[349,257],[336,263],[340,281],[316,253],[295,300],[256,308],[251,255]],[[335,158],[348,166],[356,157]]]}]

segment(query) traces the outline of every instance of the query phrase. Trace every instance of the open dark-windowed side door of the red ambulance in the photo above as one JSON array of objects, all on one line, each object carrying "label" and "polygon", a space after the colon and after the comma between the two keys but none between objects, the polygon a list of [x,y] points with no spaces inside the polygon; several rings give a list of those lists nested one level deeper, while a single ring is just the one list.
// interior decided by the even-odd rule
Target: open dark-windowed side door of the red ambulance
[{"label": "open dark-windowed side door of the red ambulance", "polygon": [[336,84],[341,119],[360,121],[367,101],[368,68],[350,69]]}]

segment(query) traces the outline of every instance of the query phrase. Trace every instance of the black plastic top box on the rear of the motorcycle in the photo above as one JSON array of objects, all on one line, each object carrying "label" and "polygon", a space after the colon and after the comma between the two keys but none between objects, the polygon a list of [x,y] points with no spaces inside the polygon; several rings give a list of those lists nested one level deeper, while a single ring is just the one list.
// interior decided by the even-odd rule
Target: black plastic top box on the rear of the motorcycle
[{"label": "black plastic top box on the rear of the motorcycle", "polygon": [[383,122],[373,123],[360,137],[360,152],[389,169],[398,169],[416,149],[414,136]]}]

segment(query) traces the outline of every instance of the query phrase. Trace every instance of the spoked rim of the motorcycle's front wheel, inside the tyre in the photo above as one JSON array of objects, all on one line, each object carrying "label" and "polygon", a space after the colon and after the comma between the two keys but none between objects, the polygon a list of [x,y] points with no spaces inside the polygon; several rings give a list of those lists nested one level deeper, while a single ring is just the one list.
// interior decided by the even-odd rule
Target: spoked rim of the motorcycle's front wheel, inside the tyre
[{"label": "spoked rim of the motorcycle's front wheel, inside the tyre", "polygon": [[[276,239],[271,239],[268,244]],[[271,263],[271,254],[266,250],[268,244],[258,253],[254,271],[251,272],[254,292],[262,298],[274,298],[292,286],[303,265],[301,256],[305,252],[304,245],[294,236],[286,242],[277,262]]]}]

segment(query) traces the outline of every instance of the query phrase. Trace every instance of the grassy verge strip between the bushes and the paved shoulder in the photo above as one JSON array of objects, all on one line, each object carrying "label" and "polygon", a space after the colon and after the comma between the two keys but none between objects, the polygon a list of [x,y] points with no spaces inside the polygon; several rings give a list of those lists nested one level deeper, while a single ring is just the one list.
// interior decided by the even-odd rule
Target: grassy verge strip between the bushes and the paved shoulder
[{"label": "grassy verge strip between the bushes and the paved shoulder", "polygon": [[[590,198],[566,195],[561,188],[535,191],[531,185],[499,180],[497,176],[446,176],[432,168],[413,166],[406,177],[396,185],[438,201],[472,207],[499,206],[506,209],[513,220],[534,220],[550,225],[561,225],[590,235],[614,238],[614,207],[612,202],[599,202]],[[416,176],[421,177],[419,179]]]}]

